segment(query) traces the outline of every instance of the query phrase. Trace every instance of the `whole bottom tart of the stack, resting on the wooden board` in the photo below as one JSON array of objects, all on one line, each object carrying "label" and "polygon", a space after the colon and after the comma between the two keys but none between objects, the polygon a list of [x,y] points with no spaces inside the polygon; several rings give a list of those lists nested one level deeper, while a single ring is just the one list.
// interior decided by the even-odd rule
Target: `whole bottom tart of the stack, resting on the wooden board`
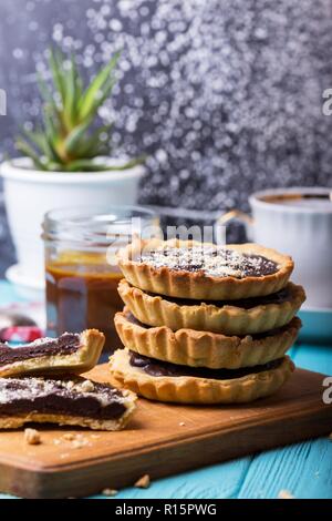
[{"label": "whole bottom tart of the stack, resting on the wooden board", "polygon": [[288,356],[240,369],[177,366],[118,349],[110,359],[112,376],[151,400],[180,403],[243,403],[276,392],[291,376]]}]

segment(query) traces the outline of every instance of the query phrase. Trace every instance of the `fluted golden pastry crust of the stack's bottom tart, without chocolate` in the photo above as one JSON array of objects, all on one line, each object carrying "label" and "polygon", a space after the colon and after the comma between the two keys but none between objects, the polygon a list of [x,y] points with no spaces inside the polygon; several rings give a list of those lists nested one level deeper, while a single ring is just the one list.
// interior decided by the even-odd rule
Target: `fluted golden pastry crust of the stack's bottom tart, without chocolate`
[{"label": "fluted golden pastry crust of the stack's bottom tart, without chocolate", "polygon": [[272,395],[291,376],[294,365],[284,357],[273,369],[241,378],[217,380],[193,376],[151,376],[129,362],[127,349],[111,357],[111,372],[125,388],[151,400],[180,403],[245,403]]}]

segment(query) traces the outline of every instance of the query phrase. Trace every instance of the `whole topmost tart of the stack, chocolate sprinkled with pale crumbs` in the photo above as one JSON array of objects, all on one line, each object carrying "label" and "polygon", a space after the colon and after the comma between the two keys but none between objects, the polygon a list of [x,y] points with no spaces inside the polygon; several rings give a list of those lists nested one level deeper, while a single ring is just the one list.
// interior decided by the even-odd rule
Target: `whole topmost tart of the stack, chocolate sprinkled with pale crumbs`
[{"label": "whole topmost tart of the stack, chocolate sprinkled with pale crumbs", "polygon": [[196,300],[236,300],[283,288],[291,257],[258,244],[218,246],[195,241],[135,241],[117,254],[124,277],[135,287]]}]

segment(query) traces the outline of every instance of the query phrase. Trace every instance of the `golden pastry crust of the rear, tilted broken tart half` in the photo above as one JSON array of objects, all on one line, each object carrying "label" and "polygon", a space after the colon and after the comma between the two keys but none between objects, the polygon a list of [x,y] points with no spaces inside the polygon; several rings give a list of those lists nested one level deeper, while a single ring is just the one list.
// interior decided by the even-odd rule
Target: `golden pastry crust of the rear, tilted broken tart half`
[{"label": "golden pastry crust of the rear, tilted broken tart half", "polygon": [[[81,344],[82,343],[82,344]],[[80,347],[70,355],[44,355],[37,358],[7,364],[0,367],[0,378],[23,375],[81,375],[92,369],[98,361],[105,336],[97,329],[85,329],[80,334]]]}]

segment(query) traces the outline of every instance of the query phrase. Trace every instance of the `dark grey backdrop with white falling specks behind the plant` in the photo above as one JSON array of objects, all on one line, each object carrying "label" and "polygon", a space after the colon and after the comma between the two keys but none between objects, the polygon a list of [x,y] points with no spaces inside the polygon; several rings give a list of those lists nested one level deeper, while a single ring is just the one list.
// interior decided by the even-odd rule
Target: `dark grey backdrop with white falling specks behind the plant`
[{"label": "dark grey backdrop with white falling specks behind the plant", "polygon": [[331,0],[0,0],[0,153],[38,118],[52,43],[86,75],[123,49],[102,116],[115,153],[149,155],[141,202],[247,210],[253,190],[332,185]]}]

